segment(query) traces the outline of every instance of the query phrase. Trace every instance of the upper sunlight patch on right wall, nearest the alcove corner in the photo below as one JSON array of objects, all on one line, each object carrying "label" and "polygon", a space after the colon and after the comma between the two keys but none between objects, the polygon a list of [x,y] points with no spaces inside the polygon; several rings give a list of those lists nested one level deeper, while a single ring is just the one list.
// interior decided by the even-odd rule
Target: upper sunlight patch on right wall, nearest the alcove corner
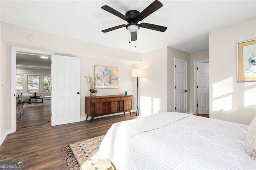
[{"label": "upper sunlight patch on right wall, nearest the alcove corner", "polygon": [[220,97],[233,92],[233,77],[213,84],[212,97]]}]

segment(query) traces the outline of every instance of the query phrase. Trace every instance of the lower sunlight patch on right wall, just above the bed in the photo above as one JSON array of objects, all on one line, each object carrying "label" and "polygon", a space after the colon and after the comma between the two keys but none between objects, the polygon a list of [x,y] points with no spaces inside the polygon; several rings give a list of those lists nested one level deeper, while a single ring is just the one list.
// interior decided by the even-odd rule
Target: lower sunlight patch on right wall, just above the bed
[{"label": "lower sunlight patch on right wall, just above the bed", "polygon": [[232,96],[223,97],[212,101],[212,111],[231,111],[232,110]]}]

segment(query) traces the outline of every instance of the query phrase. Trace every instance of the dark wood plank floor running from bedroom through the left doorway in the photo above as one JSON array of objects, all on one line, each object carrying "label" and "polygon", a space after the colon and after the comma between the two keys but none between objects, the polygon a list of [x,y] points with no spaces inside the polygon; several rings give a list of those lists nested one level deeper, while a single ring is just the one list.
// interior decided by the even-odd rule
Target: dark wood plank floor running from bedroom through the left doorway
[{"label": "dark wood plank floor running from bedroom through the left doorway", "polygon": [[[0,146],[1,162],[22,161],[25,162],[26,170],[65,170],[68,168],[64,160],[65,153],[62,152],[64,146],[106,134],[113,123],[136,118],[136,113],[132,113],[132,116],[126,113],[94,119],[91,124],[90,121],[82,121],[52,127],[48,121],[49,111],[50,106],[24,108],[23,122],[17,125],[19,128],[16,132],[8,134]],[[43,115],[43,123],[34,126],[36,123],[31,119],[38,119],[39,122],[40,115]]]}]

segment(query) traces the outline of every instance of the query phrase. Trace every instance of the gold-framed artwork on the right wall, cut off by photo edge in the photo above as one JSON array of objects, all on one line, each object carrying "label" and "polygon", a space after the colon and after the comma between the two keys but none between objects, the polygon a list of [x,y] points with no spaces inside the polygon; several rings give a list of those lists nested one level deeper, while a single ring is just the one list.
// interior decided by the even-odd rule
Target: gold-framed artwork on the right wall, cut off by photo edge
[{"label": "gold-framed artwork on the right wall, cut off by photo edge", "polygon": [[238,81],[256,81],[256,39],[237,43]]}]

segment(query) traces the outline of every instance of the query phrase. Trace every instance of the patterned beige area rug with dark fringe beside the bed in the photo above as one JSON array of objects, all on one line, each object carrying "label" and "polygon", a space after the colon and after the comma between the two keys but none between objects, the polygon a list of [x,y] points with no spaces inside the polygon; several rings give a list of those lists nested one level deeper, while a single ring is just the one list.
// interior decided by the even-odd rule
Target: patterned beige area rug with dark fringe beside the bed
[{"label": "patterned beige area rug with dark fringe beside the bed", "polygon": [[65,156],[70,170],[110,170],[112,165],[106,159],[100,159],[98,150],[105,135],[90,138],[62,148],[68,152]]}]

